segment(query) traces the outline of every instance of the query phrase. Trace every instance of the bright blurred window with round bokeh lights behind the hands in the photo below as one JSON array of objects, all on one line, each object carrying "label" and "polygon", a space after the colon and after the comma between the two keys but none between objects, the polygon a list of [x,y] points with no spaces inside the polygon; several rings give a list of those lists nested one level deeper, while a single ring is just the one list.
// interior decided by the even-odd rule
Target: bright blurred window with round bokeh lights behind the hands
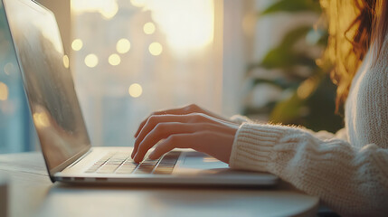
[{"label": "bright blurred window with round bokeh lights behind the hands", "polygon": [[198,103],[221,111],[216,7],[209,0],[72,1],[72,67],[94,145],[132,144],[154,110]]}]

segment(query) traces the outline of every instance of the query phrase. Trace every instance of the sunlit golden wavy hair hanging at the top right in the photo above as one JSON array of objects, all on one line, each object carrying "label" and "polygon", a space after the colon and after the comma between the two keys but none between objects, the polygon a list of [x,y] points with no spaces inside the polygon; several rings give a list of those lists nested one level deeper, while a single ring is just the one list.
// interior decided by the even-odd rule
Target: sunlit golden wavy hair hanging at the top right
[{"label": "sunlit golden wavy hair hanging at the top right", "polygon": [[[336,112],[344,104],[355,72],[371,44],[381,54],[388,17],[386,0],[321,0],[328,20],[329,40],[324,58],[334,63],[331,78],[337,85]],[[376,59],[376,58],[375,58]]]}]

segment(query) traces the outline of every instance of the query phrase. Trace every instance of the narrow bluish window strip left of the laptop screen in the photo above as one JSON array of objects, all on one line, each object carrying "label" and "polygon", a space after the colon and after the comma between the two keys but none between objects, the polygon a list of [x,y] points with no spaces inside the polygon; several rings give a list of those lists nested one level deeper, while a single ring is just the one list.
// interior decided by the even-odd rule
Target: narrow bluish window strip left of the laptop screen
[{"label": "narrow bluish window strip left of the laptop screen", "polygon": [[0,154],[31,151],[36,139],[5,21],[4,7],[0,3]]}]

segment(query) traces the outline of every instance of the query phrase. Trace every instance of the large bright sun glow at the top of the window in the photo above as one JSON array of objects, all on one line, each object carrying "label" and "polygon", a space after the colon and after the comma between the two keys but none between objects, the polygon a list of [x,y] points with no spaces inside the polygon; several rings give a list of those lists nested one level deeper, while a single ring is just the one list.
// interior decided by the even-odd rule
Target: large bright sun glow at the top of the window
[{"label": "large bright sun glow at the top of the window", "polygon": [[214,9],[208,0],[146,1],[173,52],[182,56],[213,42]]}]

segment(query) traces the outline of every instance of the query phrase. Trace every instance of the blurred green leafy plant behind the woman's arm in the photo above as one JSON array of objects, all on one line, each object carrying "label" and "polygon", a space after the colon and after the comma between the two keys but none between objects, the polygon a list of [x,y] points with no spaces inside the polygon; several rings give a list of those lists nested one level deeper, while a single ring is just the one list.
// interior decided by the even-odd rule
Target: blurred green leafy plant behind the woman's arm
[{"label": "blurred green leafy plant behind the woman's arm", "polygon": [[[280,0],[260,12],[259,19],[280,12],[322,13],[318,1]],[[342,118],[335,115],[336,86],[329,78],[332,66],[316,60],[317,57],[311,54],[313,50],[323,51],[326,48],[327,36],[326,29],[322,27],[296,26],[261,61],[252,63],[247,70],[251,91],[265,83],[288,94],[260,108],[247,105],[243,113],[247,116],[266,114],[270,122],[302,125],[313,130],[335,132],[342,127]],[[267,73],[275,70],[281,73],[269,79],[269,76],[255,75],[253,72],[258,69],[269,71]],[[305,72],[300,73],[301,69]]]}]

